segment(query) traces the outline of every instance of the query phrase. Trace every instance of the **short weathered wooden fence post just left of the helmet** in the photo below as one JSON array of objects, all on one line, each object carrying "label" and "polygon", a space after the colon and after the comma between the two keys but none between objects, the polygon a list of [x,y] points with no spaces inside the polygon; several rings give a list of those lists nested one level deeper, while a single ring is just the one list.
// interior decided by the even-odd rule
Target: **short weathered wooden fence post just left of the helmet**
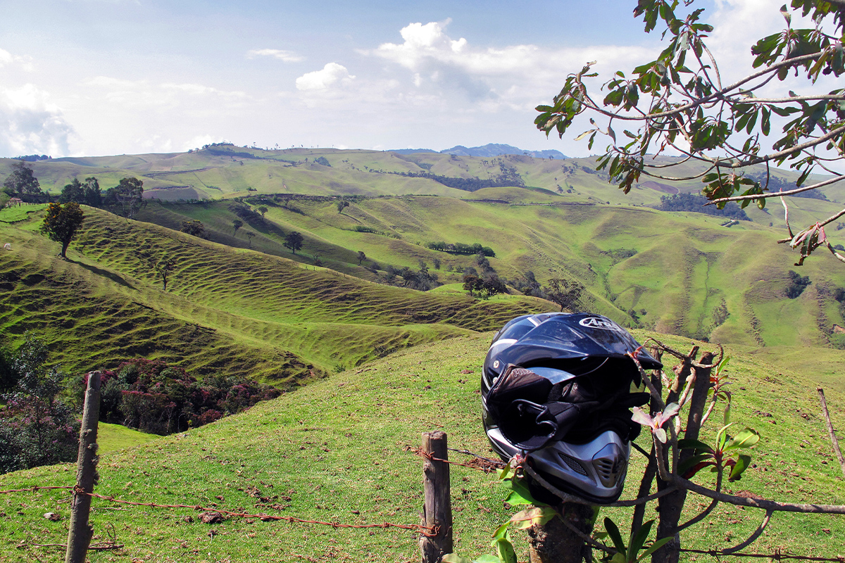
[{"label": "short weathered wooden fence post just left of the helmet", "polygon": [[439,563],[452,553],[452,499],[449,483],[449,458],[446,433],[442,430],[423,432],[423,526],[433,528],[433,536],[420,538],[423,563]]}]

